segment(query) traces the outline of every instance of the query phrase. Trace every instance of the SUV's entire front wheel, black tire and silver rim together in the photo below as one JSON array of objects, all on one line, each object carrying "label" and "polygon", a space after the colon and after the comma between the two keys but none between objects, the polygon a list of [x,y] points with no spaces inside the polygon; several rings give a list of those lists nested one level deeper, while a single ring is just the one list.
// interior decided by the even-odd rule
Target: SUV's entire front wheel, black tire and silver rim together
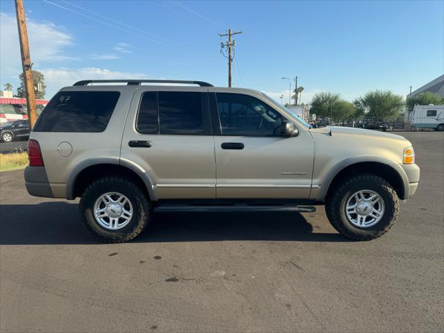
[{"label": "SUV's entire front wheel, black tire and silver rim together", "polygon": [[364,173],[350,177],[327,197],[325,212],[345,237],[368,241],[382,236],[398,217],[399,198],[383,178]]}]

